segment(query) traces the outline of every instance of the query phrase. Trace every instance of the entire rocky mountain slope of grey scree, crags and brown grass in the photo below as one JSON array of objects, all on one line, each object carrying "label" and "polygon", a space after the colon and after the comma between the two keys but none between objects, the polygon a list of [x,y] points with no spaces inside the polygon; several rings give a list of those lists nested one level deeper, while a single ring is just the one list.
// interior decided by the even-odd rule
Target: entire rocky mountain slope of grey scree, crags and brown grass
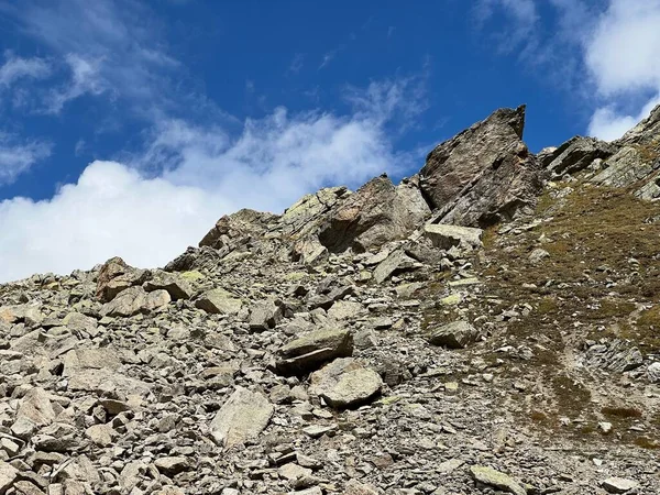
[{"label": "entire rocky mountain slope of grey scree, crags and brown grass", "polygon": [[0,495],[660,493],[660,107],[0,286]]}]

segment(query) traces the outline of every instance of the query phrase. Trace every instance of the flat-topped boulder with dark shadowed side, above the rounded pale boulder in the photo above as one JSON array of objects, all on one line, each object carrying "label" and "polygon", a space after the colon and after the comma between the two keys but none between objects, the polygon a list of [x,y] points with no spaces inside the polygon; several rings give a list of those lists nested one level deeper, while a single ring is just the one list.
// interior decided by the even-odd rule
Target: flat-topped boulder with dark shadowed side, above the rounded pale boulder
[{"label": "flat-topped boulder with dark shadowed side, above the rounded pale boulder", "polygon": [[353,336],[345,329],[314,330],[277,351],[278,373],[298,374],[316,370],[327,361],[353,354]]}]

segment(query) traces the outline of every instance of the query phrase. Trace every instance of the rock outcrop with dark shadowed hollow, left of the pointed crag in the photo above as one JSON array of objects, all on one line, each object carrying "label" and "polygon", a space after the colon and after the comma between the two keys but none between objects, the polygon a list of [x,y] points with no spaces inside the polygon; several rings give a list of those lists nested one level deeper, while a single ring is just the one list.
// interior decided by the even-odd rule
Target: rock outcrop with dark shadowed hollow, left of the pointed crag
[{"label": "rock outcrop with dark shadowed hollow, left of the pointed crag", "polygon": [[404,239],[430,215],[417,179],[395,187],[386,175],[376,177],[333,210],[319,232],[331,252],[365,251]]}]

